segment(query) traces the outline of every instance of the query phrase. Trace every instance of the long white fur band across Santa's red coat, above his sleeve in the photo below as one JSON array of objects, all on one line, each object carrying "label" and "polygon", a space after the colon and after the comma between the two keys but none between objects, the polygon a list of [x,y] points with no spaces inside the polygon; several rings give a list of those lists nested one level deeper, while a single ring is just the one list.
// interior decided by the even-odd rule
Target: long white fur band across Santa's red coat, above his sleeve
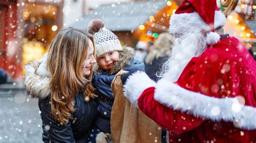
[{"label": "long white fur band across Santa's red coat, above his sleeve", "polygon": [[215,98],[159,80],[154,99],[165,106],[195,117],[233,122],[237,128],[256,130],[256,108],[240,105],[237,98]]}]

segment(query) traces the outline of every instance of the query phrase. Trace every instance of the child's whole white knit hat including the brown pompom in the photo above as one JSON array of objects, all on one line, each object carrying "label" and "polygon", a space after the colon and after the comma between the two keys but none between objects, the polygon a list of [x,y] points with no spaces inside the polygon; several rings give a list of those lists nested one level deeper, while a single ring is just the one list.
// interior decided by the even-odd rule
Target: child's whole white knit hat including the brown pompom
[{"label": "child's whole white knit hat including the brown pompom", "polygon": [[97,57],[110,51],[123,50],[117,35],[106,29],[102,20],[91,20],[87,25],[87,31],[93,34],[95,39]]}]

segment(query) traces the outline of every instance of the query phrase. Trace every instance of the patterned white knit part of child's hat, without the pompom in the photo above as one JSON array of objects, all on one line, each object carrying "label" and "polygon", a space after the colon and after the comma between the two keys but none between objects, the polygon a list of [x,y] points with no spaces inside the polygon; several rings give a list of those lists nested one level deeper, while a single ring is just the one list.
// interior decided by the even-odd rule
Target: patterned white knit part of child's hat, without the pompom
[{"label": "patterned white knit part of child's hat, without the pompom", "polygon": [[93,35],[93,38],[95,39],[97,57],[110,51],[123,50],[117,35],[104,27],[100,28],[100,30]]}]

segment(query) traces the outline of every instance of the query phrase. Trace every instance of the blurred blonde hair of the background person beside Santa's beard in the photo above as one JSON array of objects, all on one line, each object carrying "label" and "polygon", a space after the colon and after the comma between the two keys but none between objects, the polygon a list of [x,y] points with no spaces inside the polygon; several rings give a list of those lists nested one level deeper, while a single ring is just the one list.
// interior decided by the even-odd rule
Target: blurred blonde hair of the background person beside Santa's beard
[{"label": "blurred blonde hair of the background person beside Santa's beard", "polygon": [[159,34],[156,44],[147,54],[145,62],[147,64],[152,64],[154,58],[158,59],[163,56],[171,56],[172,46],[173,46],[173,36],[167,32]]}]

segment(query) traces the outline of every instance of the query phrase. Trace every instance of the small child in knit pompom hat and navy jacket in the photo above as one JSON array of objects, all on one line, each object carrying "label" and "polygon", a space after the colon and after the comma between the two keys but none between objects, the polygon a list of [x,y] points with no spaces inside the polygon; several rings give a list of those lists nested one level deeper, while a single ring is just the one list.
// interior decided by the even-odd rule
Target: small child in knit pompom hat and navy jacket
[{"label": "small child in knit pompom hat and navy jacket", "polygon": [[99,116],[96,119],[95,127],[91,130],[89,142],[95,142],[101,135],[109,142],[111,140],[110,116],[114,101],[111,91],[112,80],[122,69],[126,71],[144,70],[144,63],[133,58],[134,50],[132,48],[121,46],[117,35],[107,30],[102,20],[92,20],[87,30],[93,34],[96,44],[98,69],[95,70],[92,83],[99,95]]}]

